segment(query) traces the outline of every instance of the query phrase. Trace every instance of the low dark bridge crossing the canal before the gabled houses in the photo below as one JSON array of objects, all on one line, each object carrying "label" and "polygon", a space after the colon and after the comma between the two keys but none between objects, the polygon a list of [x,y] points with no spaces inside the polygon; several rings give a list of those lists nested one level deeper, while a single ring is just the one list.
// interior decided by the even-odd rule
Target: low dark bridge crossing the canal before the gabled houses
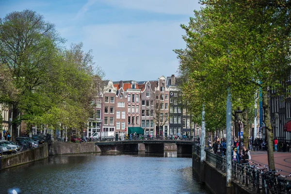
[{"label": "low dark bridge crossing the canal before the gabled houses", "polygon": [[165,152],[177,151],[177,154],[191,154],[197,142],[185,140],[133,140],[96,142],[100,152]]}]

